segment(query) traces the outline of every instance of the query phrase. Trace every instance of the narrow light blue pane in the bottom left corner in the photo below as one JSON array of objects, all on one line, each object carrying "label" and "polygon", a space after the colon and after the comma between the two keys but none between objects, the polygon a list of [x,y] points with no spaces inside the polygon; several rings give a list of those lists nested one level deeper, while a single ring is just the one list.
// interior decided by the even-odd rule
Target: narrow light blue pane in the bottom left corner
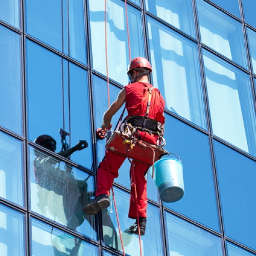
[{"label": "narrow light blue pane in the bottom left corner", "polygon": [[3,256],[25,255],[24,216],[0,204],[0,252]]}]

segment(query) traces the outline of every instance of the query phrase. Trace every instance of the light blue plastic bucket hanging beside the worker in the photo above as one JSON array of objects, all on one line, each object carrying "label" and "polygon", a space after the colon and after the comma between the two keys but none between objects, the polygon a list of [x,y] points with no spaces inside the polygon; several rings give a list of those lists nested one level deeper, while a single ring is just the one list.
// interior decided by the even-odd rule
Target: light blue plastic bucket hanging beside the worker
[{"label": "light blue plastic bucket hanging beside the worker", "polygon": [[162,201],[170,203],[184,195],[183,164],[175,158],[160,159],[154,164],[154,181]]}]

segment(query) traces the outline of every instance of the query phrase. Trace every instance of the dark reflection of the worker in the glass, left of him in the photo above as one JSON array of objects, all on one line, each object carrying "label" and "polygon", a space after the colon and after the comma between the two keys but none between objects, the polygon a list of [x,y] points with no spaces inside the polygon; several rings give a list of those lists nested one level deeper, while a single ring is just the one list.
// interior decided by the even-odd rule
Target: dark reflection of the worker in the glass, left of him
[{"label": "dark reflection of the worker in the glass, left of him", "polygon": [[[56,141],[49,135],[41,135],[36,138],[34,142],[52,152],[56,150]],[[87,141],[79,140],[75,146],[57,154],[63,157],[69,157],[74,152],[80,151],[87,146]],[[47,190],[39,190],[38,196],[40,196],[40,200],[38,204],[42,207],[41,210],[44,210],[44,207],[47,205],[51,214],[57,215],[55,217],[59,219],[63,218],[61,213],[63,212],[66,220],[62,219],[62,221],[67,221],[67,226],[75,229],[77,226],[81,225],[84,220],[82,204],[89,202],[87,199],[89,198],[87,197],[87,183],[75,179],[71,166],[66,165],[65,168],[61,169],[59,166],[55,167],[56,164],[58,165],[60,162],[58,159],[46,157],[38,150],[35,150],[35,155],[37,158],[33,163],[36,183],[41,188],[53,191],[56,195],[62,197],[61,208],[63,207],[63,210],[61,211],[57,206],[47,203],[54,199],[52,194],[46,193]],[[84,193],[86,193],[86,195],[83,197],[82,194]]]}]

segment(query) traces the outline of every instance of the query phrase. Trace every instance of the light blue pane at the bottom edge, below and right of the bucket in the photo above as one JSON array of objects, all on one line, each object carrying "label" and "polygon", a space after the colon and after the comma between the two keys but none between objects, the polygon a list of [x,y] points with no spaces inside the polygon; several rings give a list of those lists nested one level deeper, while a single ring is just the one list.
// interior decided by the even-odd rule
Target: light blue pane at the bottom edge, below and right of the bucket
[{"label": "light blue pane at the bottom edge, below and right of the bucket", "polygon": [[169,255],[221,256],[221,239],[165,212]]}]

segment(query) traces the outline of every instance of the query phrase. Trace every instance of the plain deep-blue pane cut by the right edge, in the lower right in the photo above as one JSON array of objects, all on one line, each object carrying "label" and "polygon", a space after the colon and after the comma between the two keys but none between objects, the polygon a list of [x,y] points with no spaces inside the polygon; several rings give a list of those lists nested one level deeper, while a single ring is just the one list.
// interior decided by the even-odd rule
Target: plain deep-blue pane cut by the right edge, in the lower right
[{"label": "plain deep-blue pane cut by the right edge, in the lower right", "polygon": [[256,162],[214,141],[225,235],[256,249]]}]

